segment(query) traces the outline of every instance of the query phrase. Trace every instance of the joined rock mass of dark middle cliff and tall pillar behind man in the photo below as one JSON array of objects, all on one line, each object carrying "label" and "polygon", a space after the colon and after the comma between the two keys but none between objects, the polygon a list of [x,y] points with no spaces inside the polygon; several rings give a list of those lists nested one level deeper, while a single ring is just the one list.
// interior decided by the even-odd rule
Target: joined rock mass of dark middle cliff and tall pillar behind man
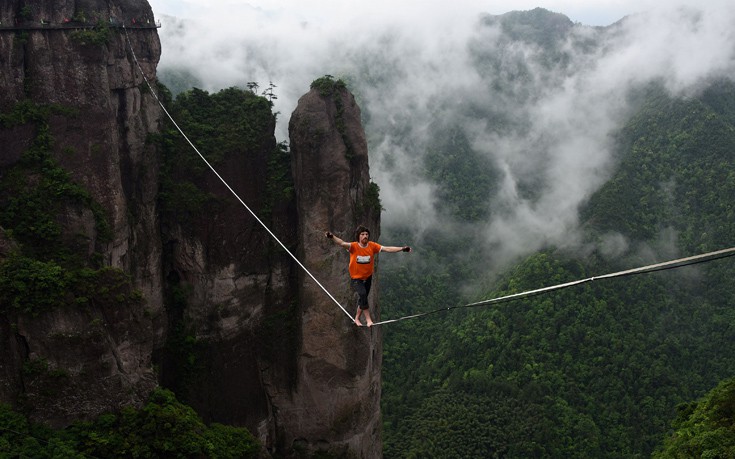
[{"label": "joined rock mass of dark middle cliff and tall pillar behind man", "polygon": [[[324,231],[351,238],[359,222],[379,233],[360,110],[344,88],[305,95],[285,165],[293,181],[280,184],[270,170],[284,159],[274,156],[275,118],[255,117],[270,119],[268,128],[215,169],[352,314],[347,254]],[[212,198],[162,220],[171,324],[157,358],[163,384],[205,419],[247,426],[278,456],[379,457],[380,330],[355,327],[214,174],[197,178],[183,163],[173,180]],[[284,187],[295,199],[266,191]]]}]

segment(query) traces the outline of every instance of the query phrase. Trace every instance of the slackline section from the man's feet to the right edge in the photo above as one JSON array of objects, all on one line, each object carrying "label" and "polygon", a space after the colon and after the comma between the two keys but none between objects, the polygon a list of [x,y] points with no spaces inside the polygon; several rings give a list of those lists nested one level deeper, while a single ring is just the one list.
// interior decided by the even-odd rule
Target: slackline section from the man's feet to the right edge
[{"label": "slackline section from the man's feet to the right edge", "polygon": [[693,265],[697,263],[704,263],[707,261],[718,260],[720,258],[731,257],[733,255],[735,255],[735,247],[731,247],[729,249],[717,250],[715,252],[703,253],[701,255],[694,255],[694,256],[686,257],[686,258],[679,258],[676,260],[666,261],[663,263],[656,263],[653,265],[641,266],[640,268],[633,268],[633,269],[627,269],[625,271],[618,271],[615,273],[603,274],[601,276],[588,277],[587,279],[580,279],[576,281],[566,282],[564,284],[551,285],[549,287],[543,287],[543,288],[539,288],[536,290],[527,290],[525,292],[513,293],[511,295],[505,295],[505,296],[501,296],[498,298],[491,298],[489,300],[478,301],[475,303],[468,303],[468,304],[464,304],[461,306],[450,306],[446,308],[439,308],[439,309],[434,309],[432,311],[422,312],[419,314],[413,314],[410,316],[399,317],[397,319],[383,320],[380,322],[375,322],[374,325],[383,325],[383,324],[389,324],[391,322],[398,322],[400,320],[415,319],[418,317],[428,316],[430,314],[436,314],[436,313],[443,312],[443,311],[449,311],[451,309],[475,308],[475,307],[480,307],[480,306],[488,306],[491,304],[504,303],[507,301],[514,301],[520,298],[526,298],[526,297],[539,295],[539,294],[546,293],[546,292],[551,292],[553,290],[561,290],[563,288],[573,287],[575,285],[584,284],[585,282],[592,282],[592,281],[601,280],[601,279],[611,279],[613,277],[632,276],[635,274],[644,274],[644,273],[650,273],[654,271],[663,271],[665,269],[681,268],[683,266],[689,266],[689,265]]}]

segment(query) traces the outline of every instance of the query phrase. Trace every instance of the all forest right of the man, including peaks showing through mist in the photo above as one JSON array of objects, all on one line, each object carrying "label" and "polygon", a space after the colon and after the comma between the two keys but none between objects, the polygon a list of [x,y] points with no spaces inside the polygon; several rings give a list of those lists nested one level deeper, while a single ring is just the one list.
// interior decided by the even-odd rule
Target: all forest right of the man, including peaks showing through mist
[{"label": "all forest right of the man, including peaks showing through mist", "polygon": [[[501,23],[501,41],[543,49],[546,59],[536,64],[558,75],[576,71],[575,59],[599,45],[590,39],[570,47],[564,19],[534,10],[487,21]],[[510,51],[488,48],[473,43],[472,56],[494,101],[522,104],[539,97],[532,83],[539,77],[526,56],[504,61]],[[510,80],[498,77],[508,69],[514,72]],[[554,84],[553,78],[544,81]],[[627,96],[631,110],[609,140],[612,172],[578,209],[581,240],[549,244],[500,272],[490,268],[498,247],[483,245],[475,223],[502,212],[494,202],[503,171],[468,140],[471,129],[461,122],[444,120],[432,130],[429,152],[414,172],[436,187],[434,210],[451,230],[420,235],[414,243],[420,266],[383,262],[383,316],[732,247],[733,82],[710,79],[675,95],[662,81],[650,81]],[[460,119],[490,120],[498,136],[532,134],[518,105],[502,113],[500,102],[473,102],[461,106],[469,114]],[[533,147],[549,148],[548,138]],[[546,189],[543,177],[524,178],[519,192],[538,202]],[[416,236],[405,225],[386,225],[383,234],[387,240]],[[707,409],[722,421],[697,422],[704,415],[687,405],[734,376],[733,274],[733,259],[727,258],[390,324],[383,369],[385,457],[630,458],[655,451],[661,457],[733,456],[728,392],[707,396],[714,401],[706,403],[719,404]]]}]

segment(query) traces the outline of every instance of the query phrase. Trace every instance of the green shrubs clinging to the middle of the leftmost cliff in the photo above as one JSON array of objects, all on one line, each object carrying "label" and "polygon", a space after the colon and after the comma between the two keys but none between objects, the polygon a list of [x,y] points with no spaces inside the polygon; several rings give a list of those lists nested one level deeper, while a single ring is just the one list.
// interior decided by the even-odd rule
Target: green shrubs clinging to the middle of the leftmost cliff
[{"label": "green shrubs clinging to the middle of the leftmost cliff", "polygon": [[[62,305],[141,301],[126,274],[101,267],[99,253],[88,253],[90,241],[109,242],[112,231],[102,206],[54,159],[48,125],[53,114],[75,116],[29,101],[0,114],[3,128],[35,129],[18,163],[0,174],[0,226],[15,244],[0,262],[0,309],[38,314]],[[91,234],[70,228],[69,215],[85,213],[95,223]]]}]

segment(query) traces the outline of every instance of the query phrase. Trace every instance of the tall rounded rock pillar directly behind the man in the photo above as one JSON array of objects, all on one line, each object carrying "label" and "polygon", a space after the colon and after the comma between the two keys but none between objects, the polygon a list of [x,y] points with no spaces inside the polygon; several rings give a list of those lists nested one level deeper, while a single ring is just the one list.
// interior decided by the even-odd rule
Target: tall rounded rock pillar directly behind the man
[{"label": "tall rounded rock pillar directly behind the man", "polygon": [[[346,308],[305,273],[299,282],[301,342],[298,381],[290,398],[275,398],[285,446],[348,457],[381,456],[379,327],[356,327],[348,252],[327,230],[354,240],[358,224],[379,234],[380,213],[368,202],[370,176],[360,109],[340,82],[312,89],[291,116],[292,166],[299,216],[299,258]],[[371,309],[378,317],[377,275]]]}]

